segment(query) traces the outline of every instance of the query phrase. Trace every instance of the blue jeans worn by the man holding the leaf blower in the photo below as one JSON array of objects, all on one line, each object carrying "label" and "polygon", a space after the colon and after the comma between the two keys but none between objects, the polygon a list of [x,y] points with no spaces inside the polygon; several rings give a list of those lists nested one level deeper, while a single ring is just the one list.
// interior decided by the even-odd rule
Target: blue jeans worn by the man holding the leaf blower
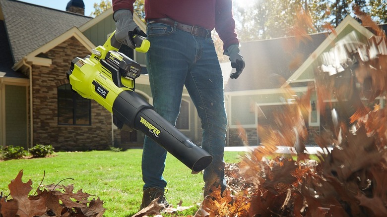
[{"label": "blue jeans worn by the man holding the leaf blower", "polygon": [[[223,77],[211,38],[161,23],[147,25],[151,47],[146,54],[153,106],[167,121],[176,124],[183,87],[186,86],[201,120],[201,147],[213,156],[204,170],[205,186],[226,187],[223,153],[227,116]],[[145,137],[142,154],[143,188],[165,188],[163,178],[167,152]]]}]

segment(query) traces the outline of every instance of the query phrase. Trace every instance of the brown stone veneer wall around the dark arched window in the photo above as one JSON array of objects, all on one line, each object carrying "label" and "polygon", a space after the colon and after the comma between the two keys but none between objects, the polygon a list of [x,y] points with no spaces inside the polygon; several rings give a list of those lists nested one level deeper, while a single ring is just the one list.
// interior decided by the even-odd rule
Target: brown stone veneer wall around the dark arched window
[{"label": "brown stone veneer wall around the dark arched window", "polygon": [[53,48],[46,55],[51,67],[33,65],[33,145],[53,145],[56,151],[106,150],[112,145],[111,114],[94,100],[91,125],[58,125],[57,88],[68,83],[66,72],[71,60],[90,54],[74,37]]}]

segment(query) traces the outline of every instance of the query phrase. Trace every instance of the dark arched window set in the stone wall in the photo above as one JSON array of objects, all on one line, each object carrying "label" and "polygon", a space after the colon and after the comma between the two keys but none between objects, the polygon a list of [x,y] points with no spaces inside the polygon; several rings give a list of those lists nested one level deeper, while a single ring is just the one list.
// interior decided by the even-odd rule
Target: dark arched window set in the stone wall
[{"label": "dark arched window set in the stone wall", "polygon": [[58,87],[58,124],[91,124],[91,101],[73,92],[70,84]]}]

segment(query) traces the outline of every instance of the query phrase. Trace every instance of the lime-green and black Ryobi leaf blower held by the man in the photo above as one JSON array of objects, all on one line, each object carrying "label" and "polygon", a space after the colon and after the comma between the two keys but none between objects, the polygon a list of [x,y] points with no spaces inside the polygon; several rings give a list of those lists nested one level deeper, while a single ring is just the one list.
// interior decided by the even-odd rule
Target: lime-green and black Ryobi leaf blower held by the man
[{"label": "lime-green and black Ryobi leaf blower held by the man", "polygon": [[[119,129],[129,127],[143,132],[191,168],[193,174],[200,172],[212,162],[212,156],[134,92],[134,79],[140,75],[141,67],[119,52],[121,44],[114,33],[103,46],[93,49],[91,56],[76,57],[71,61],[66,76],[72,90],[113,113],[113,123]],[[148,40],[139,35],[132,39],[136,51],[148,51]]]}]

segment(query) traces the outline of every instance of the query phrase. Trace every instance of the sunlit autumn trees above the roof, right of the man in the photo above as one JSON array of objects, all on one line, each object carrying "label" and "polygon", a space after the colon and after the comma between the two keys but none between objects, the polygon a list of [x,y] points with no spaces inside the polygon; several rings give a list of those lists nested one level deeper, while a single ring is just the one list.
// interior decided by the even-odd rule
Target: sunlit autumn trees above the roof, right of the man
[{"label": "sunlit autumn trees above the roof, right of the man", "polygon": [[[374,21],[387,22],[386,0],[253,0],[246,7],[243,1],[234,0],[234,16],[241,41],[270,39],[292,35],[298,25],[299,13],[312,20],[307,33],[326,31],[327,26],[337,25],[347,16],[354,16],[355,5],[371,15]],[[246,2],[246,1],[245,1]],[[302,12],[304,11],[304,12]],[[304,16],[306,17],[306,16]]]}]

